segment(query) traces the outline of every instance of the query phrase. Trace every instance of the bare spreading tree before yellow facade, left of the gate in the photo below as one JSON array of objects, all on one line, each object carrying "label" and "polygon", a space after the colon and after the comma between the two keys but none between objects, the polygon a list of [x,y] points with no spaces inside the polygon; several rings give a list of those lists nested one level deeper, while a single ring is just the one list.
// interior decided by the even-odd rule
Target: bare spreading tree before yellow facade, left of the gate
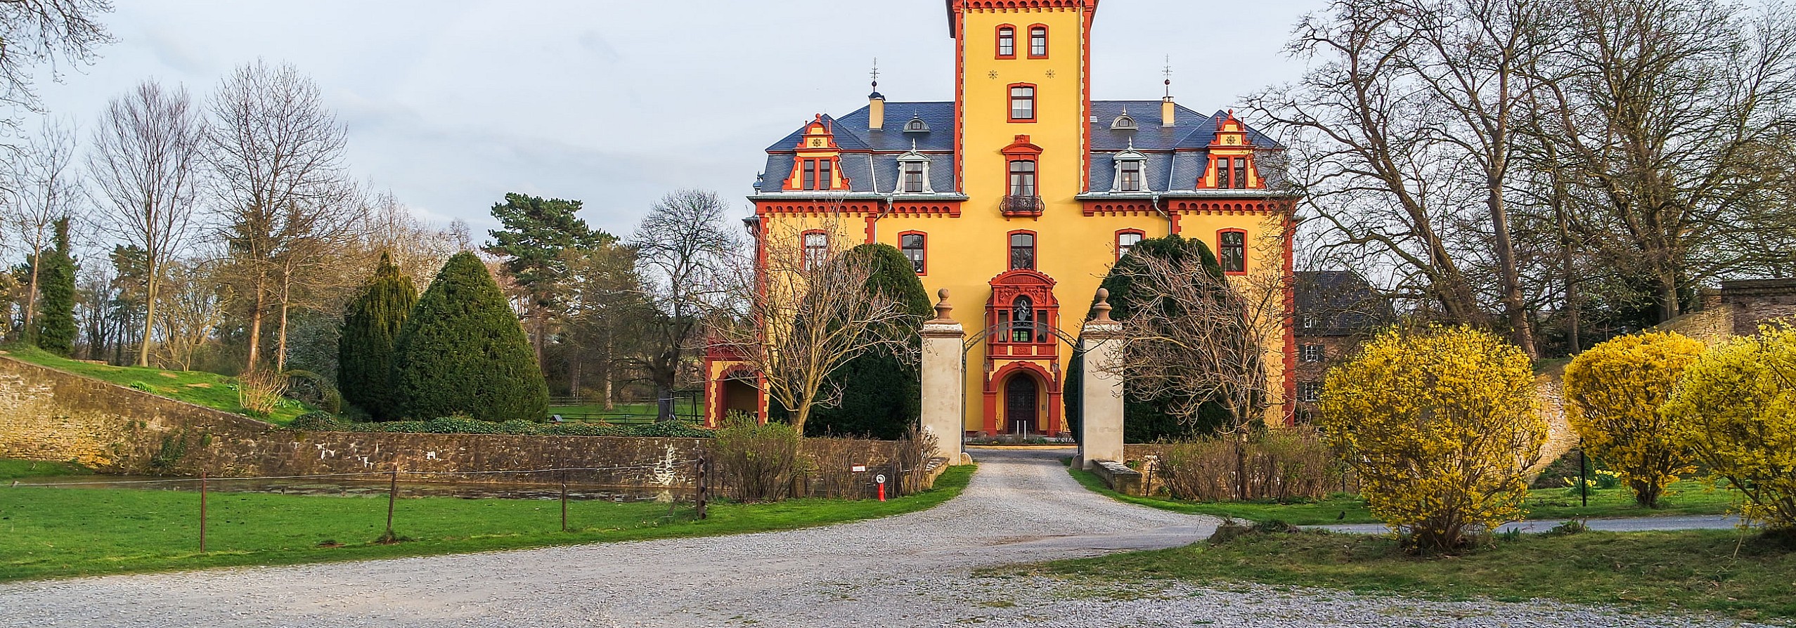
[{"label": "bare spreading tree before yellow facade, left of the gate", "polygon": [[713,330],[718,345],[762,377],[767,398],[792,413],[799,434],[812,409],[841,402],[841,382],[830,373],[850,359],[891,352],[914,361],[907,337],[918,323],[891,294],[867,289],[873,262],[839,248],[851,239],[837,221],[806,226],[828,233],[826,248],[808,242],[815,231],[796,224],[760,233],[760,264],[742,260],[756,273],[733,283],[747,316]]}]

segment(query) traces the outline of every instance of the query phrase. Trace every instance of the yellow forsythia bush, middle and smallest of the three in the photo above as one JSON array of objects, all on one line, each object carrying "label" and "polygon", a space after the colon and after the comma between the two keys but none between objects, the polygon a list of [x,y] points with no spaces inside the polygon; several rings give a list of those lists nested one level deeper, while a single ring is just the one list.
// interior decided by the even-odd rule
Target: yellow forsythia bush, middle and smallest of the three
[{"label": "yellow forsythia bush, middle and smallest of the three", "polygon": [[1683,334],[1618,336],[1566,364],[1566,420],[1634,490],[1640,506],[1658,508],[1665,486],[1690,467],[1690,449],[1660,413],[1679,377],[1706,346]]}]

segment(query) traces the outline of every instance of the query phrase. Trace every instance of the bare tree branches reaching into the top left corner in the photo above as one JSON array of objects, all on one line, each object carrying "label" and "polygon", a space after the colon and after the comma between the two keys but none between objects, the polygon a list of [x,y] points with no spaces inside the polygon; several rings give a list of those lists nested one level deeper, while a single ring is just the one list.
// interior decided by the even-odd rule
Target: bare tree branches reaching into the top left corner
[{"label": "bare tree branches reaching into the top left corner", "polygon": [[[38,68],[50,66],[59,77],[59,61],[84,65],[95,48],[111,43],[99,16],[111,13],[108,0],[9,0],[0,2],[0,104],[13,109],[41,111],[32,86]],[[0,118],[0,126],[18,127],[18,118]]]}]

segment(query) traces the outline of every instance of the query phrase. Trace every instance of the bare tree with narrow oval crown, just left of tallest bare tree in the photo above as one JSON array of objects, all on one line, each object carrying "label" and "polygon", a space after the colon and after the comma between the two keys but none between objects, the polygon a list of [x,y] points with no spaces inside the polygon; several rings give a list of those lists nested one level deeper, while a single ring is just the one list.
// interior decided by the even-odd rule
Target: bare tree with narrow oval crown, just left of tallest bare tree
[{"label": "bare tree with narrow oval crown, just left of tallest bare tree", "polygon": [[149,366],[162,275],[190,235],[203,138],[205,124],[187,90],[154,81],[111,99],[93,133],[90,196],[120,239],[145,255],[138,366]]}]

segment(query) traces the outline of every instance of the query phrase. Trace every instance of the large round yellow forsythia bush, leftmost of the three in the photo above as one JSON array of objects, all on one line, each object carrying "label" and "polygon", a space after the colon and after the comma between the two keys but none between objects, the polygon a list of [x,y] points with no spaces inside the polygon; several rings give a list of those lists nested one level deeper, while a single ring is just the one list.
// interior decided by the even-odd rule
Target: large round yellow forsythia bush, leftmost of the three
[{"label": "large round yellow forsythia bush, leftmost of the three", "polygon": [[1329,370],[1320,427],[1361,479],[1374,517],[1451,551],[1471,526],[1523,515],[1523,470],[1546,422],[1514,345],[1471,328],[1388,330]]}]

